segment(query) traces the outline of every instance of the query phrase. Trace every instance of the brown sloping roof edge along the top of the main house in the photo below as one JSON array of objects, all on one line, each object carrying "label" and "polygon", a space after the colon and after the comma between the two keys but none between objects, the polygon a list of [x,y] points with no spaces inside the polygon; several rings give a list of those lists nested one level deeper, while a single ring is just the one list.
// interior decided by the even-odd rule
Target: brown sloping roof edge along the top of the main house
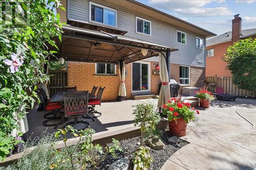
[{"label": "brown sloping roof edge along the top of the main house", "polygon": [[104,2],[108,2],[113,5],[120,6],[124,9],[129,9],[134,12],[138,12],[142,15],[149,16],[151,18],[155,18],[159,21],[169,23],[173,26],[176,26],[178,28],[184,28],[188,31],[191,31],[193,33],[197,33],[199,35],[203,35],[205,37],[212,37],[216,36],[215,33],[212,33],[210,31],[207,31],[203,28],[200,28],[198,26],[193,25],[192,23],[189,23],[187,21],[184,21],[180,18],[177,18],[175,16],[169,15],[167,13],[164,13],[162,11],[159,11],[155,8],[146,6],[144,4],[141,4],[135,0],[126,0],[126,1],[113,1],[113,0],[103,0]]}]

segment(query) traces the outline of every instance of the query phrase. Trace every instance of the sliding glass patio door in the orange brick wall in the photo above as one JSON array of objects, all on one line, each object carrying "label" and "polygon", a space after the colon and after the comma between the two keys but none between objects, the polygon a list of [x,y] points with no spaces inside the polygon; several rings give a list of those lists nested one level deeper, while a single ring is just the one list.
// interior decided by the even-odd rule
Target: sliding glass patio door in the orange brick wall
[{"label": "sliding glass patio door in the orange brick wall", "polygon": [[149,64],[133,63],[133,91],[149,90]]}]

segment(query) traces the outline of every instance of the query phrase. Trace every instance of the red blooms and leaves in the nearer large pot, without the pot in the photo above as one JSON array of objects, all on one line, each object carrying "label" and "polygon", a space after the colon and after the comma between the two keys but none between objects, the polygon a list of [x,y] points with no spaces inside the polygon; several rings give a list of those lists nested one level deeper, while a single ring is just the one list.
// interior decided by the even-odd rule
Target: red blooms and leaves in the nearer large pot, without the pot
[{"label": "red blooms and leaves in the nearer large pot, without the pot", "polygon": [[195,120],[194,113],[199,114],[195,107],[191,107],[190,103],[186,103],[185,99],[182,100],[181,96],[171,98],[167,104],[163,106],[163,114],[168,116],[168,120],[177,120],[183,118],[186,123]]}]

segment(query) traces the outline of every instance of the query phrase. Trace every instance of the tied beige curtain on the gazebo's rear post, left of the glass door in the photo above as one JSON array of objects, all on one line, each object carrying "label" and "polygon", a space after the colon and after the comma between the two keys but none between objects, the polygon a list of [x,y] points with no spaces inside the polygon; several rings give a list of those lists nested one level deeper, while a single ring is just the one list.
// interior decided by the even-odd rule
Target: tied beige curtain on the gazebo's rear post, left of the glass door
[{"label": "tied beige curtain on the gazebo's rear post, left of the glass door", "polygon": [[118,101],[123,101],[123,97],[126,96],[126,89],[125,89],[125,62],[121,61],[118,63],[119,65],[119,77],[120,77],[120,85],[119,85],[119,91],[118,91]]}]

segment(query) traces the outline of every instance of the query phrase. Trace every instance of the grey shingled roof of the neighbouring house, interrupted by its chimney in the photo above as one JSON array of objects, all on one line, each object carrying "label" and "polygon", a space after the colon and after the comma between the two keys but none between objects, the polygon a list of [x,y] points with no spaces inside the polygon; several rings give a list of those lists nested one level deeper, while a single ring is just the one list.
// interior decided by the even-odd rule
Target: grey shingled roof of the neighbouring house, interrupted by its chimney
[{"label": "grey shingled roof of the neighbouring house, interrupted by its chimney", "polygon": [[[241,34],[242,35],[240,36],[240,38],[246,38],[246,37],[256,35],[256,28],[255,29],[249,29],[249,30],[242,30]],[[206,46],[228,42],[228,41],[231,41],[231,38],[232,38],[232,31],[229,31],[227,33],[218,35],[216,37],[207,39],[206,40]]]}]

